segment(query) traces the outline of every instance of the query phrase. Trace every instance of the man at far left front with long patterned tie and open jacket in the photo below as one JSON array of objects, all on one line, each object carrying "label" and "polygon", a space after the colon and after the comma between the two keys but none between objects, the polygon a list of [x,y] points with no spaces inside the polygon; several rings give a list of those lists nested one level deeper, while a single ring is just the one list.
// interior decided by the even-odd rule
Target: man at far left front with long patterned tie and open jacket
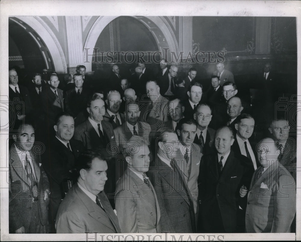
[{"label": "man at far left front with long patterned tie and open jacket", "polygon": [[9,150],[9,231],[16,234],[45,233],[48,223],[49,182],[39,154],[32,149],[35,132],[22,124]]}]

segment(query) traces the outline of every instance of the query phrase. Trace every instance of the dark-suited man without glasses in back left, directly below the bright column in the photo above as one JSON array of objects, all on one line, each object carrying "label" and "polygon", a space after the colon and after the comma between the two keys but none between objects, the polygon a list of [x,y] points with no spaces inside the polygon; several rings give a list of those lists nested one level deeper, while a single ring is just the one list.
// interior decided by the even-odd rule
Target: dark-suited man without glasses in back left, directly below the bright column
[{"label": "dark-suited man without glasses in back left, directly below the bright column", "polygon": [[85,87],[83,87],[84,80],[82,74],[74,74],[73,80],[75,88],[66,92],[64,107],[65,111],[71,114],[74,118],[74,124],[78,125],[86,119],[85,114],[89,92]]}]

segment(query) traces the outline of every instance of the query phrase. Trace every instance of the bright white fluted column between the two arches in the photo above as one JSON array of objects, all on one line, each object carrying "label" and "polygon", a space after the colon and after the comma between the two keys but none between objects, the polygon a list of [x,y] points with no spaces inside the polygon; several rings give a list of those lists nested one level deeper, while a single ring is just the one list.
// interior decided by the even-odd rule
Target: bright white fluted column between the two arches
[{"label": "bright white fluted column between the two arches", "polygon": [[66,48],[69,72],[83,64],[82,23],[80,16],[65,16]]}]

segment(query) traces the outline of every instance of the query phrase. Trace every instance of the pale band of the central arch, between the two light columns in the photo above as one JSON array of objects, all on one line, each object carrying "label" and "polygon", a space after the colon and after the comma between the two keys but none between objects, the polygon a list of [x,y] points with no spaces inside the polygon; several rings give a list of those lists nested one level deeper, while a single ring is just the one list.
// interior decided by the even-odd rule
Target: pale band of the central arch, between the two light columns
[{"label": "pale band of the central arch, between the two light columns", "polygon": [[[119,16],[100,16],[92,25],[84,47],[84,58],[86,57],[85,48],[91,50],[89,55],[92,55],[93,48],[95,47],[96,41],[101,34],[102,30],[115,18]],[[175,34],[172,30],[172,27],[164,19],[164,17],[156,16],[131,16],[136,20],[144,24],[144,26],[149,29],[149,31],[154,36],[156,43],[158,45],[159,51],[163,52],[163,48],[169,48],[170,51],[174,51],[176,54],[179,52],[178,42],[176,40]],[[86,61],[86,60],[84,60]],[[85,62],[87,71],[92,71],[92,56],[88,57],[88,62]]]}]

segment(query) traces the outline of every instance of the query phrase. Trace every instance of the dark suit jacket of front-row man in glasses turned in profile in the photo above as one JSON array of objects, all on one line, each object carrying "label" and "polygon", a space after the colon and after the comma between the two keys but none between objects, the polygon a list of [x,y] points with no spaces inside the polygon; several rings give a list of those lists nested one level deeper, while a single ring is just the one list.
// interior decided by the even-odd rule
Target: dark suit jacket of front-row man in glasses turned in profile
[{"label": "dark suit jacket of front-row man in glasses turned in profile", "polygon": [[[154,167],[150,167],[150,178],[159,202],[161,213],[161,232],[195,232],[194,208],[188,197],[187,185],[180,182],[177,171],[172,170],[157,157]],[[178,186],[178,187],[177,187]]]}]

